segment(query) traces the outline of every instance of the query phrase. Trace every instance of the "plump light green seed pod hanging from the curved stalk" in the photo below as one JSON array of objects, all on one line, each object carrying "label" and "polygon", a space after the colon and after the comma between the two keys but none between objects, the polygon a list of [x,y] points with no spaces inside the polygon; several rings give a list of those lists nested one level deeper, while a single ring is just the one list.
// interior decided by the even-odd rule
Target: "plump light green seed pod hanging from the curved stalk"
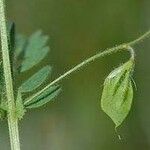
[{"label": "plump light green seed pod hanging from the curved stalk", "polygon": [[131,109],[133,88],[130,76],[132,70],[133,61],[130,60],[112,71],[104,82],[101,107],[116,127],[122,124]]}]

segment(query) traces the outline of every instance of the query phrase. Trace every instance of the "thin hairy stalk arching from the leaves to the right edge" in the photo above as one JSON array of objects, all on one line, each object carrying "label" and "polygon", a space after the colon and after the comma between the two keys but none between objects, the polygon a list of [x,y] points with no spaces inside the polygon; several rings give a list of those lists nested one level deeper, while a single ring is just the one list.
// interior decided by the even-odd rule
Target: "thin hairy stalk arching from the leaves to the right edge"
[{"label": "thin hairy stalk arching from the leaves to the right edge", "polygon": [[[75,67],[73,67],[72,69],[70,69],[69,71],[67,71],[66,73],[64,73],[63,75],[61,75],[60,77],[58,77],[57,79],[55,79],[54,81],[52,81],[50,84],[48,84],[47,86],[45,86],[42,90],[40,90],[39,92],[37,92],[36,94],[32,95],[31,97],[29,97],[27,99],[26,102],[31,101],[33,98],[35,98],[36,96],[39,96],[42,92],[44,92],[46,89],[48,89],[50,86],[55,85],[56,83],[60,82],[61,80],[65,79],[67,76],[69,76],[70,74],[72,74],[73,72],[76,72],[77,70],[83,68],[84,66],[86,66],[87,64],[94,62],[96,59],[104,57],[106,55],[110,55],[112,53],[116,53],[119,50],[129,50],[130,53],[132,52],[131,55],[133,55],[133,49],[131,51],[132,46],[137,45],[138,43],[142,42],[143,40],[145,40],[146,38],[148,38],[150,36],[150,30],[146,33],[144,33],[142,36],[140,36],[139,38],[137,38],[136,40],[133,40],[131,42],[128,43],[124,43],[124,44],[120,44],[118,46],[109,48],[104,50],[103,52],[99,52],[96,55],[84,60],[83,62],[81,62],[80,64],[76,65]],[[25,103],[26,103],[25,102]]]}]

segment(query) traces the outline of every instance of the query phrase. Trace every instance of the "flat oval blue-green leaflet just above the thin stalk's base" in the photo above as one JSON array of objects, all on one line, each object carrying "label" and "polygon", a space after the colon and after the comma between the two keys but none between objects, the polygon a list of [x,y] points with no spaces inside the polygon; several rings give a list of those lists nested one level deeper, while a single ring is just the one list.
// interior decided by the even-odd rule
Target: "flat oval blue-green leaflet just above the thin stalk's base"
[{"label": "flat oval blue-green leaflet just above the thin stalk's base", "polygon": [[26,80],[20,87],[21,92],[30,92],[38,88],[51,73],[51,67],[45,66],[28,80]]}]

